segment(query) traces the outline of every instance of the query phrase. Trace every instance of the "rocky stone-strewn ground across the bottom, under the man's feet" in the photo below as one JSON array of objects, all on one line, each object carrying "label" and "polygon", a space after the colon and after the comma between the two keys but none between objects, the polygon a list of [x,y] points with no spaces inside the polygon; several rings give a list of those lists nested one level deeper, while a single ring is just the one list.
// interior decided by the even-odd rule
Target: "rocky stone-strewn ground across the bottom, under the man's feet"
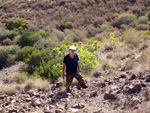
[{"label": "rocky stone-strewn ground across the bottom, under the man's feet", "polygon": [[72,92],[62,90],[62,83],[45,91],[21,91],[0,95],[1,113],[149,113],[150,70],[139,74],[124,72],[113,79],[94,75],[88,88],[78,84]]}]

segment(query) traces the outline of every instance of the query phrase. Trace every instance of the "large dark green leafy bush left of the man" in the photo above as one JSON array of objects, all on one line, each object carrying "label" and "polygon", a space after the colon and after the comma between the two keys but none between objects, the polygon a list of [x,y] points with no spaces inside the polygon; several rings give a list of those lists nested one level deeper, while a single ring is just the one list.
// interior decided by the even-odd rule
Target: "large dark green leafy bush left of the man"
[{"label": "large dark green leafy bush left of the man", "polygon": [[26,46],[17,52],[15,59],[30,64],[35,76],[48,78],[51,82],[54,82],[60,76],[60,73],[54,71],[54,69],[57,63],[62,62],[62,59],[52,59],[50,48],[44,48],[41,45]]}]

